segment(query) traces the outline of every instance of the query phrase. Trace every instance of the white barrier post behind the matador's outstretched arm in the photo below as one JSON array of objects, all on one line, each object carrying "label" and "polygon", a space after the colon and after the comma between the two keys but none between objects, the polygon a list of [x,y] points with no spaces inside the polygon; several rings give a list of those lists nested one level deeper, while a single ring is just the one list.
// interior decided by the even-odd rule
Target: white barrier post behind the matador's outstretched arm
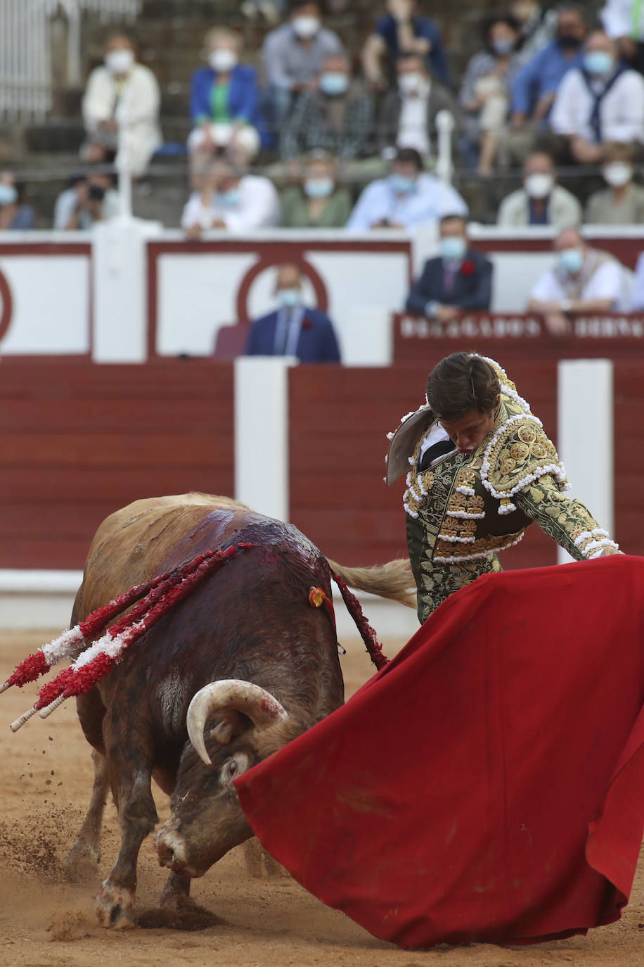
[{"label": "white barrier post behind the matador's outstretched arm", "polygon": [[[557,450],[578,497],[614,537],[613,364],[562,360],[557,366]],[[559,548],[559,564],[572,560]]]}]

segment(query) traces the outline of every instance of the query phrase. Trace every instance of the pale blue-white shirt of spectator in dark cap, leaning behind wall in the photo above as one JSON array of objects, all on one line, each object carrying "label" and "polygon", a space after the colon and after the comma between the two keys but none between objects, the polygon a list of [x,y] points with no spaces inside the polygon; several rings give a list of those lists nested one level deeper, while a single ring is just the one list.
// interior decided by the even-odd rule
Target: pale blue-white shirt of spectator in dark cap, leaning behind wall
[{"label": "pale blue-white shirt of spectator in dark cap, leaning behind wall", "polygon": [[467,217],[467,205],[459,192],[434,175],[418,175],[413,191],[396,194],[388,178],[367,185],[350,214],[347,228],[363,231],[378,221],[411,228],[426,221],[437,221],[442,215]]}]

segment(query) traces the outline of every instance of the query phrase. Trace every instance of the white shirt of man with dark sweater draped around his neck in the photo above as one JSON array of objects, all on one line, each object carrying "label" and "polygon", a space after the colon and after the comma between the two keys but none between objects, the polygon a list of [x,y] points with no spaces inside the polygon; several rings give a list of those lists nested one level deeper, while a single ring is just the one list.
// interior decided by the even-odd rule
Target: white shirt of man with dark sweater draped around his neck
[{"label": "white shirt of man with dark sweater draped around his neck", "polygon": [[[598,85],[598,90],[602,85]],[[573,68],[564,74],[552,105],[550,126],[555,134],[577,134],[595,141],[590,126],[594,99],[583,74]],[[644,78],[636,71],[620,74],[600,104],[602,141],[644,143]]]}]

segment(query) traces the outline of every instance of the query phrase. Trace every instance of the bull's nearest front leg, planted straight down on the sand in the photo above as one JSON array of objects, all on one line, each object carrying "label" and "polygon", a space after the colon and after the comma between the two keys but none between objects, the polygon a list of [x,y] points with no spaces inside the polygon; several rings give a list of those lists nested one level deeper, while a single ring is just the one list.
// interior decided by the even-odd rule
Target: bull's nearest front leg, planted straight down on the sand
[{"label": "bull's nearest front leg, planted straight down on the sand", "polygon": [[152,763],[144,753],[141,734],[130,727],[126,736],[107,745],[112,793],[119,810],[121,850],[96,895],[94,909],[102,926],[123,929],[134,926],[139,850],[158,817],[151,790]]}]

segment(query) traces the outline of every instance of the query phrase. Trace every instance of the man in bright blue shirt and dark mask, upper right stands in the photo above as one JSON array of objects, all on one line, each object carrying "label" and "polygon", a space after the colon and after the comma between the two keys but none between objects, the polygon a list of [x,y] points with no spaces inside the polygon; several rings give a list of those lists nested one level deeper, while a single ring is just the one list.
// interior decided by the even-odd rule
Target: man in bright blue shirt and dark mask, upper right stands
[{"label": "man in bright blue shirt and dark mask, upper right stands", "polygon": [[514,78],[511,87],[511,146],[523,159],[535,133],[546,130],[546,120],[565,73],[581,67],[581,45],[587,33],[584,15],[575,7],[557,14],[554,40],[538,50]]}]

